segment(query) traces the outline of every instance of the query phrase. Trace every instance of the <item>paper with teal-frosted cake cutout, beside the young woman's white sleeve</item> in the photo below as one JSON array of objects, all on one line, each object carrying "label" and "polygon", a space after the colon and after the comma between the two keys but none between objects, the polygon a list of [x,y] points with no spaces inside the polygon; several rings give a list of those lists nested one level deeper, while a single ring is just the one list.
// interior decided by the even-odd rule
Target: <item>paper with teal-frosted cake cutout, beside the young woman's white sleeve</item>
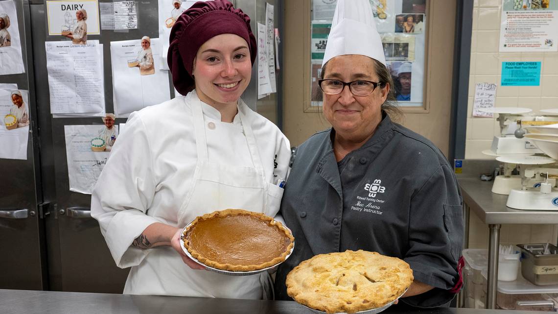
[{"label": "paper with teal-frosted cake cutout, beside the young woman's white sleeve", "polygon": [[[114,123],[114,120],[113,120]],[[65,125],[70,191],[91,194],[118,137],[118,126]],[[110,135],[107,137],[107,135]]]}]

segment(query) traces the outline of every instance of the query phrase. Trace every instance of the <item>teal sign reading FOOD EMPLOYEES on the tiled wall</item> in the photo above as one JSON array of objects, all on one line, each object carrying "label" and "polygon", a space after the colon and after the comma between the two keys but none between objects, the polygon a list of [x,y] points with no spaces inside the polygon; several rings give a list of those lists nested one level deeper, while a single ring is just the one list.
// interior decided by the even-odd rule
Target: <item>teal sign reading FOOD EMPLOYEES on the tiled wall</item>
[{"label": "teal sign reading FOOD EMPLOYEES on the tiled wall", "polygon": [[538,86],[541,62],[502,62],[502,86]]}]

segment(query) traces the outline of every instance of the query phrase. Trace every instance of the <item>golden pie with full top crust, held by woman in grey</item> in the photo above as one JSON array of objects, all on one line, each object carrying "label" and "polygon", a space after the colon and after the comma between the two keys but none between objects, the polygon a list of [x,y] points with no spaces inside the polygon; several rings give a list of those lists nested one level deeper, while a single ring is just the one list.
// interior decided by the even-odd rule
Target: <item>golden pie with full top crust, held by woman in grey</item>
[{"label": "golden pie with full top crust, held by woman in grey", "polygon": [[413,282],[409,265],[377,252],[347,250],[302,261],[287,274],[287,294],[327,313],[370,310],[397,299]]}]

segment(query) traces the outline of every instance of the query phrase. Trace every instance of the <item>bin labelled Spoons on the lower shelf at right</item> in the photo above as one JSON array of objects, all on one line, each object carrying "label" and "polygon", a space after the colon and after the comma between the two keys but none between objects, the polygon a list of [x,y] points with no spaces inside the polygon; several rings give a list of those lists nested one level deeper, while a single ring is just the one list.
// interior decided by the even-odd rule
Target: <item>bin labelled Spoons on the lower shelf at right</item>
[{"label": "bin labelled Spoons on the lower shelf at right", "polygon": [[[558,284],[558,248],[549,243],[518,244],[521,274],[537,286]],[[547,248],[552,254],[542,254]]]}]

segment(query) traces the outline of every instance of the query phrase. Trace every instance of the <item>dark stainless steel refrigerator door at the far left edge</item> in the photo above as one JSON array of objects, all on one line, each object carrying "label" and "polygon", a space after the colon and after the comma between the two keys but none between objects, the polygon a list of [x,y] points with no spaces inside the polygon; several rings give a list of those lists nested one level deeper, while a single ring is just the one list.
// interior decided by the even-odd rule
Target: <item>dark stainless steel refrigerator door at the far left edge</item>
[{"label": "dark stainless steel refrigerator door at the far left edge", "polygon": [[42,290],[48,288],[48,283],[44,216],[38,206],[42,202],[42,193],[38,171],[36,103],[33,101],[32,69],[27,66],[32,59],[27,51],[30,45],[26,27],[29,23],[29,8],[27,1],[14,3],[26,72],[0,75],[0,83],[16,83],[19,89],[30,91],[27,108],[31,125],[27,139],[27,159],[0,159],[0,289]]}]

